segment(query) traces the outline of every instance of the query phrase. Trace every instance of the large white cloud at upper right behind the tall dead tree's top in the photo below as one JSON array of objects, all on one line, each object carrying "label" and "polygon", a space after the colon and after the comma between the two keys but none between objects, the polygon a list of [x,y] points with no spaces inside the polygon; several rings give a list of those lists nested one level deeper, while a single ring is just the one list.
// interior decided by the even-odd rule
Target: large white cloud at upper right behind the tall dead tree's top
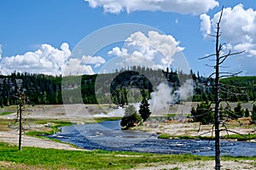
[{"label": "large white cloud at upper right behind the tall dead tree's top", "polygon": [[[209,31],[209,27],[212,28],[213,32],[213,29],[216,28],[219,16],[220,12],[214,14],[213,18],[210,20],[210,17],[206,14],[201,15],[201,31],[203,35]],[[211,22],[211,26],[208,26],[209,22]],[[242,55],[247,56],[247,58],[241,59],[243,61],[248,59],[248,57],[256,59],[256,11],[253,10],[253,8],[246,9],[242,4],[238,4],[234,8],[224,8],[220,31],[222,33],[222,42],[228,44],[225,46],[225,49],[229,48],[233,50],[233,52],[246,50]],[[254,68],[254,71],[248,71],[251,67],[245,66],[246,63],[247,62],[240,63],[240,67],[244,69],[242,71],[250,72],[250,74],[254,72],[254,74],[256,74]]]}]

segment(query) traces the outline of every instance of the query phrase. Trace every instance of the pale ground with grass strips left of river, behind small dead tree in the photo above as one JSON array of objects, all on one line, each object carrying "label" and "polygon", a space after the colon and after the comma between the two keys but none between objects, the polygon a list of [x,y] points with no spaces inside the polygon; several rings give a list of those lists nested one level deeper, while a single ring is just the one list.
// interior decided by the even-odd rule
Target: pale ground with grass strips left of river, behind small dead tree
[{"label": "pale ground with grass strips left of river, behind small dead tree", "polygon": [[[86,107],[86,108],[85,108]],[[28,105],[29,113],[24,113],[26,121],[23,123],[22,146],[38,148],[54,148],[59,150],[81,150],[72,144],[63,144],[60,141],[43,138],[42,134],[53,134],[63,126],[84,124],[88,122],[102,122],[106,118],[91,118],[90,114],[83,112],[87,109],[92,115],[102,112],[97,105]],[[108,109],[108,107],[106,106]],[[0,142],[18,145],[19,122],[16,122],[15,105],[2,108],[0,111]],[[73,110],[67,115],[66,109]],[[116,118],[109,118],[116,120]]]}]

